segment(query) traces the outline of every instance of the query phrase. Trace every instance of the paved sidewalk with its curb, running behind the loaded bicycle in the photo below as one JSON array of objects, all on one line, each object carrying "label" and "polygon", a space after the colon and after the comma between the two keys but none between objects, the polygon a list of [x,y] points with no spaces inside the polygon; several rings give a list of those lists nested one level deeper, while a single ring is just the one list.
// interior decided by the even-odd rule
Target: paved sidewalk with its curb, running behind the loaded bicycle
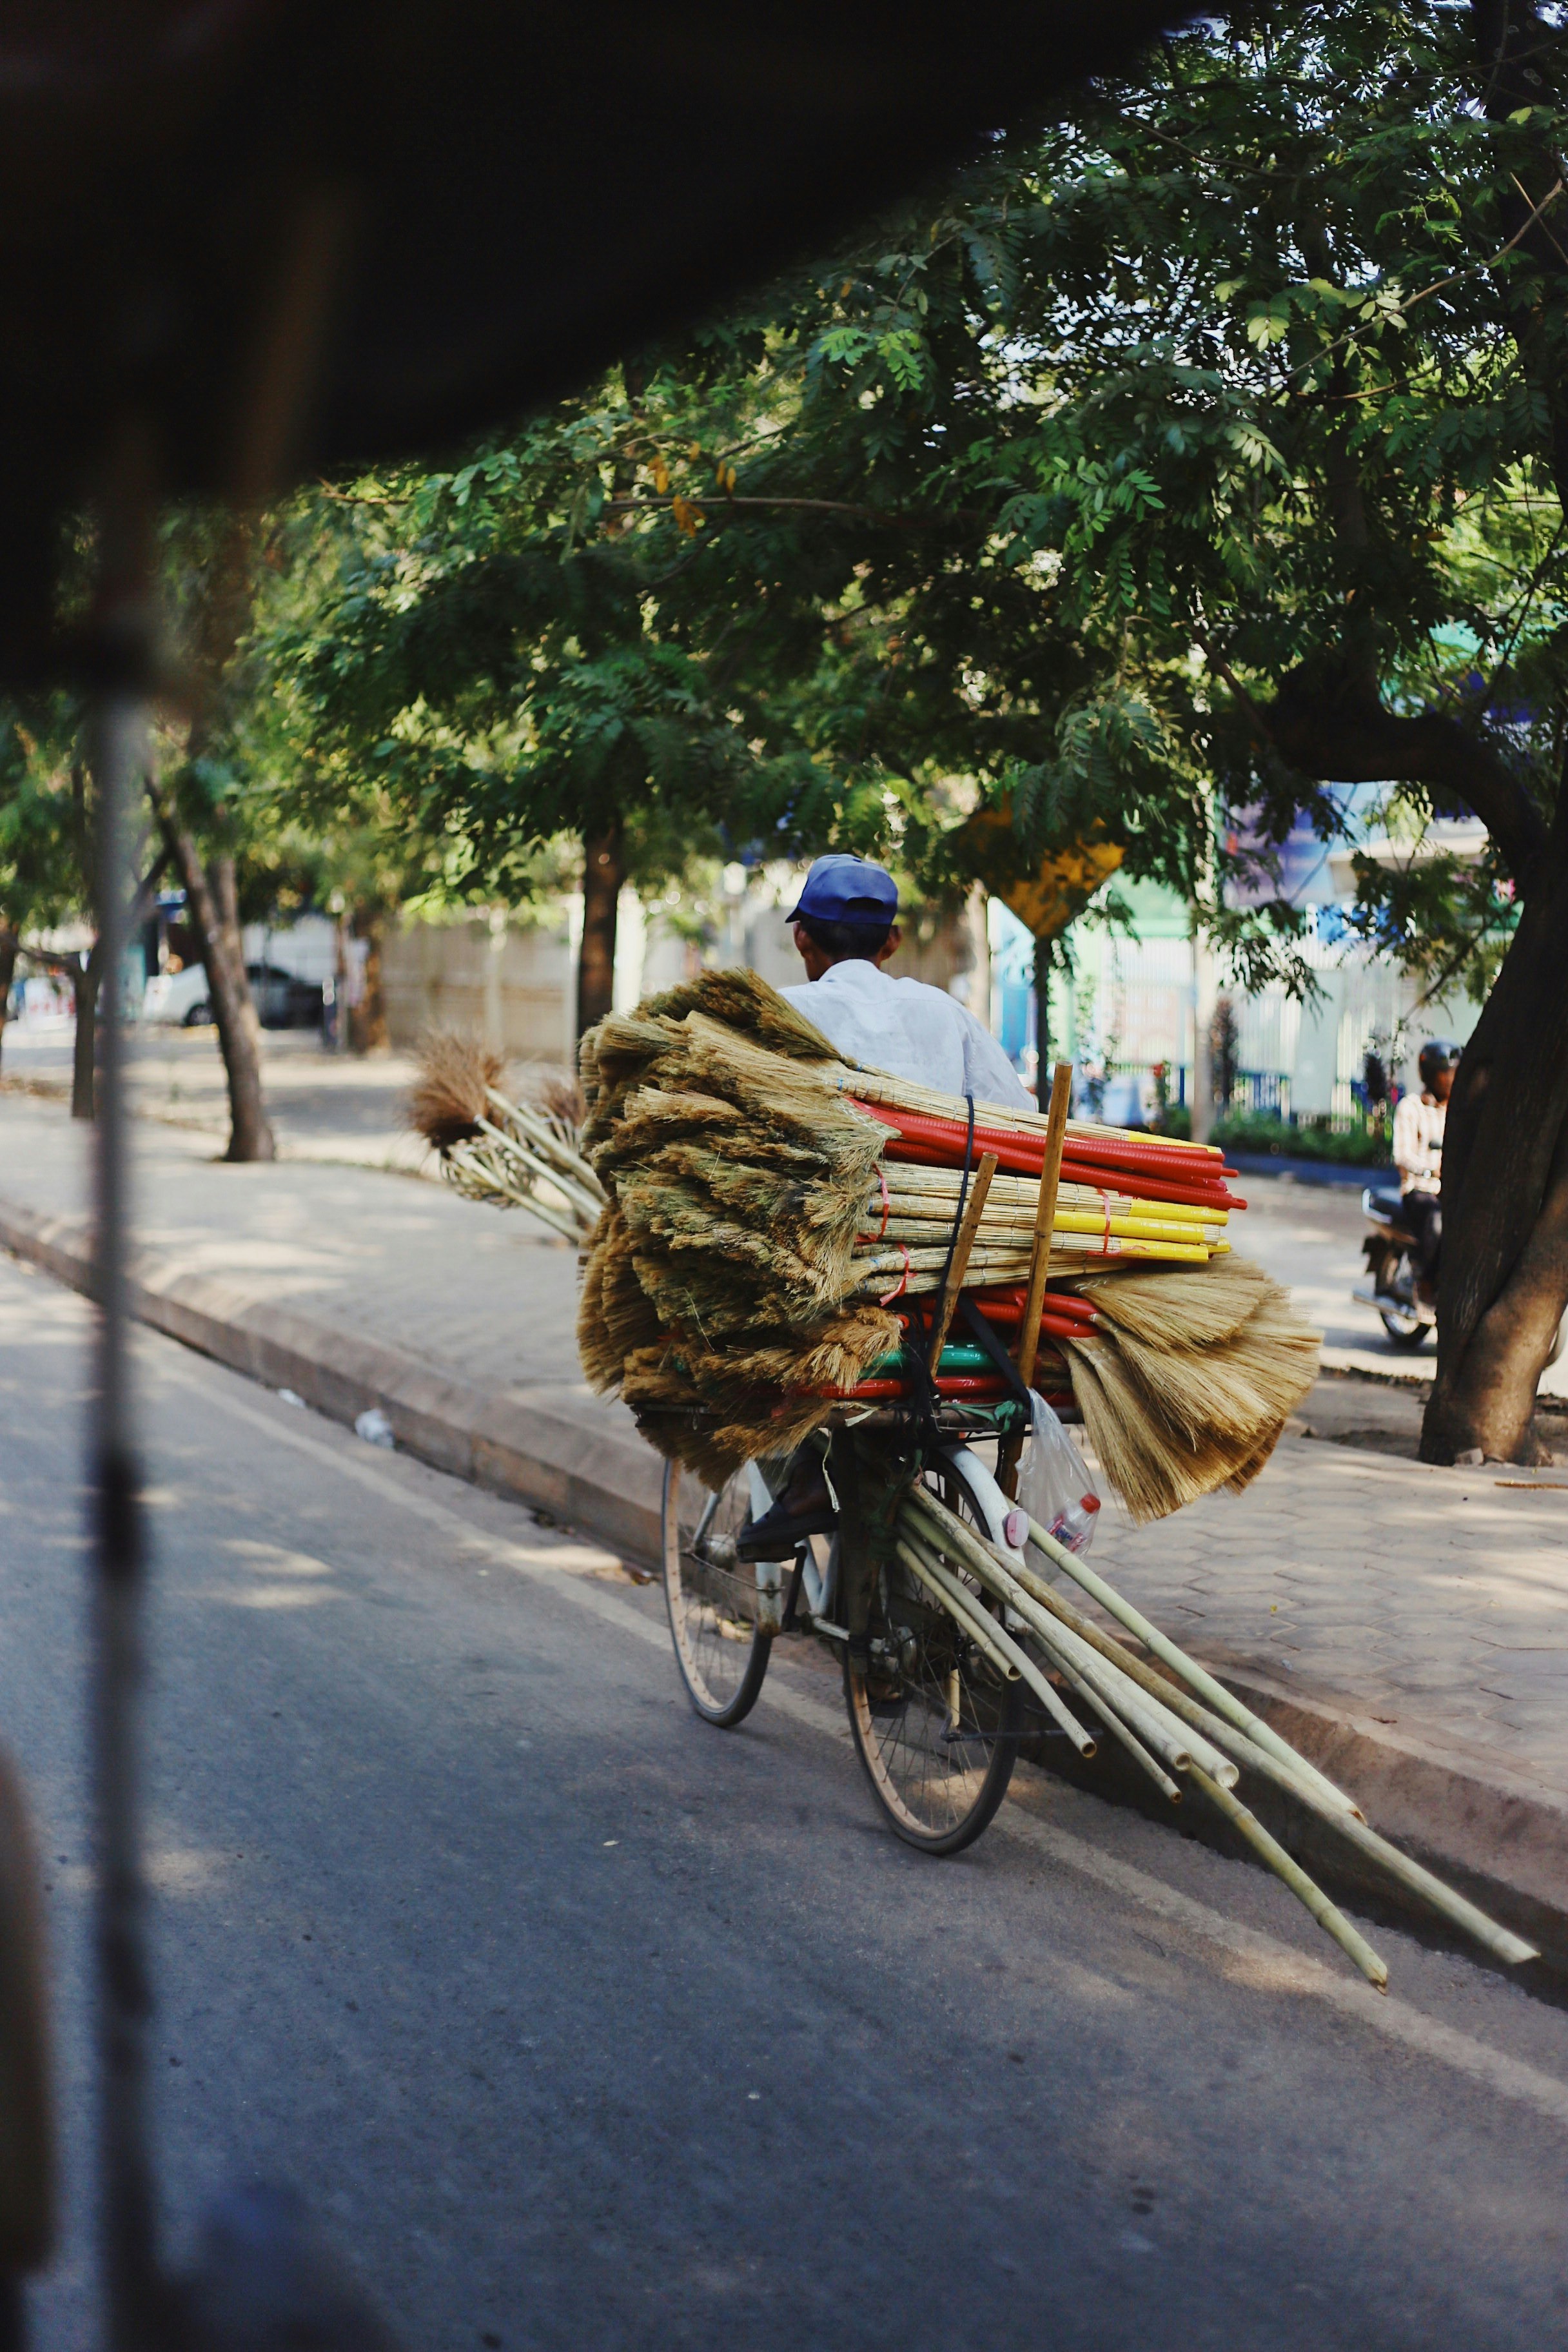
[{"label": "paved sidewalk with its curb, running behind the loaded bicycle", "polygon": [[[576,1367],[576,1261],[524,1216],[355,1167],[223,1167],[139,1122],[141,1312],[339,1418],[651,1557],[661,1465]],[[0,1098],[0,1242],[85,1279],[85,1136]],[[1345,1416],[1326,1381],[1302,1430]],[[1361,1397],[1380,1390],[1361,1385]],[[1413,1414],[1413,1402],[1392,1399]],[[1288,1435],[1246,1496],[1095,1559],[1331,1762],[1396,1837],[1561,1922],[1568,1475],[1429,1470]]]}]

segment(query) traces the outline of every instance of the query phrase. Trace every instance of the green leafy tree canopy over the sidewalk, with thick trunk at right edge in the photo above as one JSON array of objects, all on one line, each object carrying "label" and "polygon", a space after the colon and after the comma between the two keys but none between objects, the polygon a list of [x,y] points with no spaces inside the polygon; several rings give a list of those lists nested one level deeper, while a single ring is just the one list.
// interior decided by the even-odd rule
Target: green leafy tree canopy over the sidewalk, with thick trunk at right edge
[{"label": "green leafy tree canopy over the sidewalk, with thick trunk at right edge", "polygon": [[1107,830],[1298,983],[1237,858],[1347,783],[1413,837],[1479,816],[1479,861],[1363,861],[1361,924],[1497,976],[1429,1437],[1528,1446],[1568,1298],[1561,99],[1505,0],[1173,35],[463,468],[308,506],[299,774],[498,891],[611,828],[940,877],[978,795],[1030,856]]}]

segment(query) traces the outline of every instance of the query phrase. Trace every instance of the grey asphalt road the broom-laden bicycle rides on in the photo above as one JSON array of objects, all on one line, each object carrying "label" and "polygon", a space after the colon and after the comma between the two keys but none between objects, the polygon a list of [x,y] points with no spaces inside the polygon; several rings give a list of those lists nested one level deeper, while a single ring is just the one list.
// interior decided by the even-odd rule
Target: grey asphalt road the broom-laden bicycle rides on
[{"label": "grey asphalt road the broom-laden bicycle rides on", "polygon": [[[0,1261],[0,1729],[47,1856],[89,2314],[89,1310]],[[404,2340],[1199,2352],[1568,2336],[1568,2016],[1032,1778],[929,1863],[835,1684],[686,1710],[656,1590],[139,1338],[172,2256],[294,2180]]]}]

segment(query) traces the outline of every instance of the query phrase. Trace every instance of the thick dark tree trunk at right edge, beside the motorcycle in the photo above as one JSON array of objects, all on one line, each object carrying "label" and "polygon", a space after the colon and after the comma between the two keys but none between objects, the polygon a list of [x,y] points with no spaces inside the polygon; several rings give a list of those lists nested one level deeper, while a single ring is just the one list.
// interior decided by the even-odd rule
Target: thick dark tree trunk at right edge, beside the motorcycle
[{"label": "thick dark tree trunk at right edge, beside the motorcycle", "polygon": [[1474,1446],[1544,1458],[1535,1385],[1568,1308],[1568,873],[1554,863],[1554,882],[1523,906],[1448,1108],[1429,1463]]}]

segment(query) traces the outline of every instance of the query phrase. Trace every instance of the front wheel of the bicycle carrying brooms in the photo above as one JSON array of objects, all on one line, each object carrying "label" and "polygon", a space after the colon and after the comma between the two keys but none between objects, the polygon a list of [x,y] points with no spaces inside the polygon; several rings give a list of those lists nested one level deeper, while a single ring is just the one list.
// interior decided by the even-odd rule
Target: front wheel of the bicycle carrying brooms
[{"label": "front wheel of the bicycle carrying brooms", "polygon": [[686,1696],[708,1724],[729,1731],[757,1705],[773,1649],[757,1623],[757,1569],[736,1559],[736,1536],[752,1517],[752,1489],[738,1470],[719,1494],[665,1463],[665,1609]]}]

